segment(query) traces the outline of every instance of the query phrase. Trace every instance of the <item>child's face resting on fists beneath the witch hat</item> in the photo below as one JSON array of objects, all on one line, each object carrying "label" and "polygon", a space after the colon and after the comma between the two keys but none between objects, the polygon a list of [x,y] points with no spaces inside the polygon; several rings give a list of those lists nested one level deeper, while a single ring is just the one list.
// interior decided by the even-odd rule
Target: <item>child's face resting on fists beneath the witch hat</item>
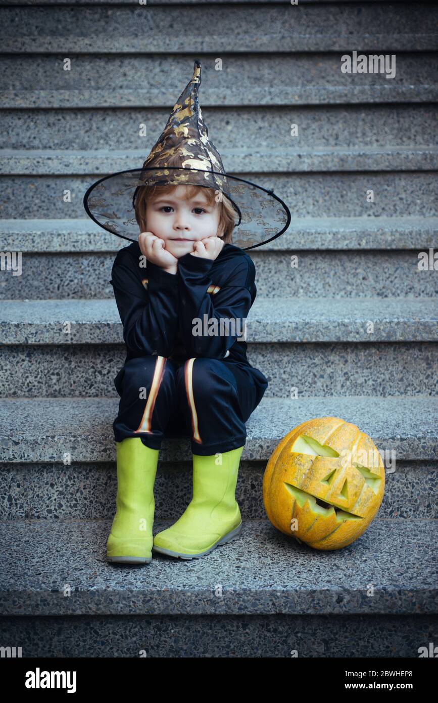
[{"label": "child's face resting on fists beneath the witch hat", "polygon": [[218,236],[218,203],[208,205],[204,188],[190,200],[184,200],[186,188],[177,186],[168,195],[158,192],[146,205],[147,231],[164,239],[166,250],[177,259],[192,252],[195,241]]}]

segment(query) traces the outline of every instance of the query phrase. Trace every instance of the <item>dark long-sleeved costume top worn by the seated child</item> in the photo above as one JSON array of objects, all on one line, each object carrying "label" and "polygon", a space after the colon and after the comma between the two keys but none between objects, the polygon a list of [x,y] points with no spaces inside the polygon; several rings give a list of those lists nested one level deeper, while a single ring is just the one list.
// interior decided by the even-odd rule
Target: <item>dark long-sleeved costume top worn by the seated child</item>
[{"label": "dark long-sleeved costume top worn by the seated child", "polygon": [[142,258],[133,242],[118,252],[112,267],[126,361],[143,354],[177,363],[194,356],[230,359],[251,368],[255,382],[265,387],[265,376],[246,357],[246,316],[257,295],[251,257],[232,244],[216,259],[187,253],[178,259],[178,275],[152,262],[141,268]]}]

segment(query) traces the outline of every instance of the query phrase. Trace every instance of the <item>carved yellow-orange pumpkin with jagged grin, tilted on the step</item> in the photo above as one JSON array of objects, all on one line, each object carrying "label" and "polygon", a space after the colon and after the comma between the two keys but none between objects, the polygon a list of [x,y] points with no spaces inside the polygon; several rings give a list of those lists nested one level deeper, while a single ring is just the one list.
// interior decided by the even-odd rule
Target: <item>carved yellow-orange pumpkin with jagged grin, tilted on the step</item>
[{"label": "carved yellow-orange pumpkin with jagged grin, tilted on the step", "polygon": [[340,418],[298,425],[272,452],[263,476],[267,517],[315,549],[351,544],[378,512],[385,467],[371,437]]}]

